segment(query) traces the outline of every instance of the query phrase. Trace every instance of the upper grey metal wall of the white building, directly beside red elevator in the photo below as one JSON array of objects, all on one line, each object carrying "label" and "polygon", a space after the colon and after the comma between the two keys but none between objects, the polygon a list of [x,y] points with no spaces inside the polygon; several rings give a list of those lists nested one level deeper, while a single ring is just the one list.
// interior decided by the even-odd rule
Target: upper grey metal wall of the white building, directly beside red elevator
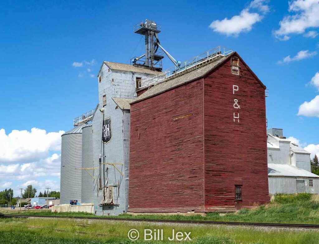
[{"label": "upper grey metal wall of the white building, directly beside red elevator", "polygon": [[279,149],[268,148],[269,164],[290,164],[290,142],[279,142]]}]

